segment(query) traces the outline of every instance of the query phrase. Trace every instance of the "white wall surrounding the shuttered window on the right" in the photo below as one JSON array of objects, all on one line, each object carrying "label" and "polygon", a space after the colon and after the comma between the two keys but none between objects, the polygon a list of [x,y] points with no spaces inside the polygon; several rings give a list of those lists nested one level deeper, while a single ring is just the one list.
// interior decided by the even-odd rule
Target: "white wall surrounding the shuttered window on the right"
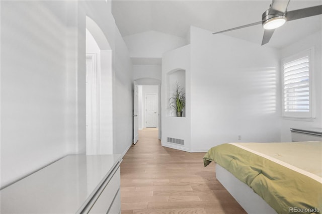
[{"label": "white wall surrounding the shuttered window on the right", "polygon": [[301,51],[309,48],[314,48],[312,57],[312,83],[313,83],[313,110],[315,111],[315,119],[310,121],[303,120],[290,120],[282,119],[281,127],[281,141],[290,142],[291,132],[290,128],[322,128],[322,66],[321,66],[321,31],[316,32],[302,40],[279,50],[280,58],[283,59],[288,56],[292,56]]}]

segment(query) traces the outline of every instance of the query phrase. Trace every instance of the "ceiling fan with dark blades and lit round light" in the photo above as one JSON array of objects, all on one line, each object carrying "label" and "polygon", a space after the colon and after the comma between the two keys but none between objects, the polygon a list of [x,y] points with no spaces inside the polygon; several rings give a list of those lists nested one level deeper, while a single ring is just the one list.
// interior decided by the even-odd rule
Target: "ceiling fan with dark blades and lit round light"
[{"label": "ceiling fan with dark blades and lit round light", "polygon": [[273,0],[273,3],[270,5],[270,8],[263,13],[262,21],[239,26],[236,28],[231,28],[224,31],[215,32],[212,34],[219,34],[227,31],[233,31],[240,28],[246,28],[253,25],[262,24],[264,28],[262,45],[265,45],[270,41],[275,29],[284,25],[285,22],[322,14],[322,5],[298,9],[294,11],[287,11],[287,6],[289,2],[290,0]]}]

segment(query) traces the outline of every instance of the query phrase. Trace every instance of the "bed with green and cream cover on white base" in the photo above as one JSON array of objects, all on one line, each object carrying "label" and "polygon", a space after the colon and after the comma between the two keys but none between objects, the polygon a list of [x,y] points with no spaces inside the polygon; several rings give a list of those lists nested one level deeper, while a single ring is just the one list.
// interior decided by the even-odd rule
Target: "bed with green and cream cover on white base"
[{"label": "bed with green and cream cover on white base", "polygon": [[321,153],[320,141],[227,143],[211,148],[204,165],[216,163],[218,180],[249,213],[320,213]]}]

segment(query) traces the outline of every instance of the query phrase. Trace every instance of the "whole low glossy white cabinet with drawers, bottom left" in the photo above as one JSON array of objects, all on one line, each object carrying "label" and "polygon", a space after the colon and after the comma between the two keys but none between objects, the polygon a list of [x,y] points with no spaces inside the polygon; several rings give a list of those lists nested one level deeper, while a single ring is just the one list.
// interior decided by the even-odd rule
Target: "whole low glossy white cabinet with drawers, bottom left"
[{"label": "whole low glossy white cabinet with drawers, bottom left", "polygon": [[1,190],[1,213],[121,210],[120,155],[68,155]]}]

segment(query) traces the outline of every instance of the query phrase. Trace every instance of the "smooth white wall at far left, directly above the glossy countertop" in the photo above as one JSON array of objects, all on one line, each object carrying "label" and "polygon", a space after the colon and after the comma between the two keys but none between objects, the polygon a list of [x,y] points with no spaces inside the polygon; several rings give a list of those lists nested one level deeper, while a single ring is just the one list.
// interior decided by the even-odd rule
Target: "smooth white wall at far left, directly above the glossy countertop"
[{"label": "smooth white wall at far left, directly above the glossy countertop", "polygon": [[65,3],[55,6],[1,2],[1,186],[67,152]]}]

